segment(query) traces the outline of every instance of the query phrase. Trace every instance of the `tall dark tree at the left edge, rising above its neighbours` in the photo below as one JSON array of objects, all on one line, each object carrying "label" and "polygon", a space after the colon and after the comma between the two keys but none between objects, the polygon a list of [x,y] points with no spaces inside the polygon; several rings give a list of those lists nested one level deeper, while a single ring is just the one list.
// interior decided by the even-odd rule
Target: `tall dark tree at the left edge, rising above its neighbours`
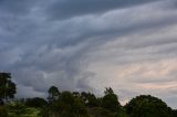
[{"label": "tall dark tree at the left edge, rising above its neighbours", "polygon": [[1,104],[14,97],[15,84],[11,81],[10,73],[0,73],[0,102]]}]

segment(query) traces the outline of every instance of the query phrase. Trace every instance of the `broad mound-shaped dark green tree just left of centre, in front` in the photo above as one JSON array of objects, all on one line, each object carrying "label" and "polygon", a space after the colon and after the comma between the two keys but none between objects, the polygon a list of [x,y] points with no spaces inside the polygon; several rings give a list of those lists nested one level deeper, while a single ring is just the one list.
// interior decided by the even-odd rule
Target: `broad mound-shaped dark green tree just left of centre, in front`
[{"label": "broad mound-shaped dark green tree just left of centre, in front", "polygon": [[86,117],[84,102],[71,92],[63,92],[55,99],[49,102],[41,111],[42,117]]}]

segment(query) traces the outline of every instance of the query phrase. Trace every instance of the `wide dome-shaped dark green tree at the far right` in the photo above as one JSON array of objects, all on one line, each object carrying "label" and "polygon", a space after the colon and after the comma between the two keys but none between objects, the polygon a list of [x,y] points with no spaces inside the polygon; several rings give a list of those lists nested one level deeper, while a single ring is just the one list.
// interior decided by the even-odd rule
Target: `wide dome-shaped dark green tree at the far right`
[{"label": "wide dome-shaped dark green tree at the far right", "polygon": [[167,105],[150,95],[133,98],[126,104],[125,109],[129,117],[169,117]]}]

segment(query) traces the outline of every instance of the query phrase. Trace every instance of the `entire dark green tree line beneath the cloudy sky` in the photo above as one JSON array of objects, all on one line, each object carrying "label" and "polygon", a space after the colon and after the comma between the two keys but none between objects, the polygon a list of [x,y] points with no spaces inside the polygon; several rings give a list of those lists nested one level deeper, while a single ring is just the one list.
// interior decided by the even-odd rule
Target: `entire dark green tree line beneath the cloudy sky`
[{"label": "entire dark green tree line beneath the cloudy sky", "polygon": [[[15,93],[11,74],[0,73],[0,117],[177,117],[177,110],[150,95],[136,96],[122,106],[111,87],[105,88],[103,97],[90,92],[61,92],[56,86],[48,89],[48,98],[17,100]],[[38,115],[30,116],[29,108],[39,110]]]}]

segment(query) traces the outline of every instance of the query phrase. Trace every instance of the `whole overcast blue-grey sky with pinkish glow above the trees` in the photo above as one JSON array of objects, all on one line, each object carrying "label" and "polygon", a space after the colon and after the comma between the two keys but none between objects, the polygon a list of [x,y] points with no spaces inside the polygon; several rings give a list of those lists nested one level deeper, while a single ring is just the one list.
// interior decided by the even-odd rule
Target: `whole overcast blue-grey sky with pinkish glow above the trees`
[{"label": "whole overcast blue-grey sky with pinkish glow above the trees", "polygon": [[0,71],[17,97],[111,86],[177,108],[177,1],[0,0]]}]

